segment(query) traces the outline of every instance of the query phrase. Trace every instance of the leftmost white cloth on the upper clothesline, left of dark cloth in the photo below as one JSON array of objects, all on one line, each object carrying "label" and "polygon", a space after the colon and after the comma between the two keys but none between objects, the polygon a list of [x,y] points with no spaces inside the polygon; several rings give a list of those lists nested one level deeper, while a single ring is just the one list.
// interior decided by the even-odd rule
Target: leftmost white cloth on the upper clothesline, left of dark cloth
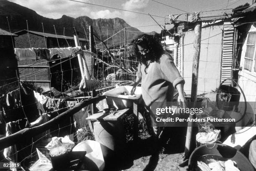
[{"label": "leftmost white cloth on the upper clothesline, left of dark cloth", "polygon": [[18,61],[26,59],[36,60],[36,53],[32,48],[14,48],[14,53]]}]

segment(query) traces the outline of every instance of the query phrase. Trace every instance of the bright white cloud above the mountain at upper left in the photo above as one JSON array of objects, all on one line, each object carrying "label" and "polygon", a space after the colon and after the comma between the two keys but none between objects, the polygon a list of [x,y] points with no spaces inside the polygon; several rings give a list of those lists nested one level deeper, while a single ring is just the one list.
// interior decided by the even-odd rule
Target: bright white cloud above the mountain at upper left
[{"label": "bright white cloud above the mountain at upper left", "polygon": [[[47,18],[61,18],[62,15],[79,17],[90,14],[90,8],[86,4],[75,3],[68,0],[9,0],[13,3],[35,10],[39,15]],[[84,0],[89,2],[89,0]]]}]

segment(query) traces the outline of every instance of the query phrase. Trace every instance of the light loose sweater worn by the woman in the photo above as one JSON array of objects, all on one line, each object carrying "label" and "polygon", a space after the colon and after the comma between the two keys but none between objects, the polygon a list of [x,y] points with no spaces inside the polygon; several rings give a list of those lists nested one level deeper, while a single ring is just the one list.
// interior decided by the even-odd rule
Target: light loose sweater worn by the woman
[{"label": "light loose sweater worn by the woman", "polygon": [[142,98],[146,107],[150,107],[153,102],[171,102],[174,87],[185,83],[174,65],[172,56],[162,54],[159,62],[150,63],[146,72],[145,68],[145,64],[139,64],[136,76],[141,78]]}]

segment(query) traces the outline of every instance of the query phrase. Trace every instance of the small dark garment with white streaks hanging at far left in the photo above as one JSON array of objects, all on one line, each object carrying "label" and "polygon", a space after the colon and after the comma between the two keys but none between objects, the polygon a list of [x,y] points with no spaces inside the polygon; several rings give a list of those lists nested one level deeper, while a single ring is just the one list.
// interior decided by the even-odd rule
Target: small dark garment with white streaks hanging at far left
[{"label": "small dark garment with white streaks hanging at far left", "polygon": [[6,104],[10,108],[17,108],[21,106],[19,89],[15,89],[6,95]]}]

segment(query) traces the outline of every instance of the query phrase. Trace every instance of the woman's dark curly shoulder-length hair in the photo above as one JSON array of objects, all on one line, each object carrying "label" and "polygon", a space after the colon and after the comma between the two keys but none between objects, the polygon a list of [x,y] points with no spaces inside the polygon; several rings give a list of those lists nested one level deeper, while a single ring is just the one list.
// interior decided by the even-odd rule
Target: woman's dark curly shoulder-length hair
[{"label": "woman's dark curly shoulder-length hair", "polygon": [[139,53],[137,45],[148,47],[149,54],[150,54],[149,59],[151,62],[154,62],[154,61],[159,62],[161,55],[164,53],[164,50],[160,42],[156,41],[156,39],[154,39],[154,36],[152,35],[143,34],[141,36],[138,36],[133,41],[133,44],[134,44],[136,56],[140,63],[145,64],[146,61],[144,61],[144,58],[141,57],[141,54]]}]

